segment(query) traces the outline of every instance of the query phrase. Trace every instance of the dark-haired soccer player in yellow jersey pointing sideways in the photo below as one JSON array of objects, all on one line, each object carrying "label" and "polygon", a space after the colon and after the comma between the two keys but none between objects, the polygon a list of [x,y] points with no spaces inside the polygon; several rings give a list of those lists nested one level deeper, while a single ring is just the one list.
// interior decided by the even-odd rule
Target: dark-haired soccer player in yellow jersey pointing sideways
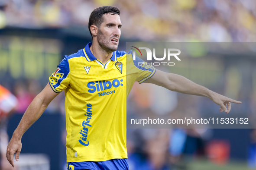
[{"label": "dark-haired soccer player in yellow jersey pointing sideways", "polygon": [[[49,84],[29,105],[7,147],[6,157],[19,161],[21,137],[59,92],[65,90],[68,170],[128,170],[126,161],[126,97],[135,81],[172,91],[206,96],[228,113],[232,100],[176,74],[138,66],[130,54],[118,51],[120,11],[103,6],[91,13],[92,42],[65,56]],[[226,108],[227,107],[227,108]]]}]

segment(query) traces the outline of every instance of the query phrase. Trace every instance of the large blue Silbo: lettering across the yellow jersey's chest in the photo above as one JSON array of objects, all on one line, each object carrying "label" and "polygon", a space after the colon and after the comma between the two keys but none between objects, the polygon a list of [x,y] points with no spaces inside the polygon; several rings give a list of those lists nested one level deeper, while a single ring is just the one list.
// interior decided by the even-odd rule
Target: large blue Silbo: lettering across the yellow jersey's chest
[{"label": "large blue Silbo: lettering across the yellow jersey's chest", "polygon": [[95,81],[95,82],[88,82],[87,87],[90,88],[88,90],[89,93],[94,93],[95,91],[104,91],[107,89],[112,88],[118,88],[120,85],[123,86],[123,79],[118,80],[118,79],[113,79],[112,82],[110,81]]}]

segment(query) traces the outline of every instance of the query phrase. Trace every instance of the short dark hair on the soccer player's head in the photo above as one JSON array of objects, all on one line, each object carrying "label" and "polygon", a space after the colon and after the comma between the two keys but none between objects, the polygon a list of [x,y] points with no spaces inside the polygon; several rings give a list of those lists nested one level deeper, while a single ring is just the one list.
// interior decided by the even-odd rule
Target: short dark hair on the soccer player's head
[{"label": "short dark hair on the soccer player's head", "polygon": [[[93,12],[91,12],[91,15],[89,17],[89,23],[88,28],[91,34],[91,25],[96,25],[97,27],[100,27],[101,23],[104,22],[103,15],[106,13],[110,13],[111,15],[118,14],[120,16],[120,10],[115,6],[101,6],[99,8],[94,9]],[[92,37],[92,34],[91,34]]]}]

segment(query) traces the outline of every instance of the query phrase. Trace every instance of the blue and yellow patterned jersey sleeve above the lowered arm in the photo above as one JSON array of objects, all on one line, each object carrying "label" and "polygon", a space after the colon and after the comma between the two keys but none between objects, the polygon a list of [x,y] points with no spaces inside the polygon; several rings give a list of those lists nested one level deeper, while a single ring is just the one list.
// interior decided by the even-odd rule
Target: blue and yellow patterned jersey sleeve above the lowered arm
[{"label": "blue and yellow patterned jersey sleeve above the lowered arm", "polygon": [[67,57],[64,57],[56,71],[49,77],[49,84],[53,91],[59,93],[68,87],[70,81],[69,72],[68,59]]}]

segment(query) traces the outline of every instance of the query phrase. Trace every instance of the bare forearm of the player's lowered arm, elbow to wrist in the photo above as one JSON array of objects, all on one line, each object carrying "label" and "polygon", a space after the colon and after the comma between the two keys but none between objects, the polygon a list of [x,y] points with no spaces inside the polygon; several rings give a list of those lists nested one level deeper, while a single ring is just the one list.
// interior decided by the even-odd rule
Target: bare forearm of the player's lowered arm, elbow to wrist
[{"label": "bare forearm of the player's lowered arm, elbow to wrist", "polygon": [[24,113],[18,127],[13,132],[13,137],[21,139],[26,130],[39,119],[46,108],[47,105],[44,104],[42,98],[40,98],[39,95],[36,96]]}]

